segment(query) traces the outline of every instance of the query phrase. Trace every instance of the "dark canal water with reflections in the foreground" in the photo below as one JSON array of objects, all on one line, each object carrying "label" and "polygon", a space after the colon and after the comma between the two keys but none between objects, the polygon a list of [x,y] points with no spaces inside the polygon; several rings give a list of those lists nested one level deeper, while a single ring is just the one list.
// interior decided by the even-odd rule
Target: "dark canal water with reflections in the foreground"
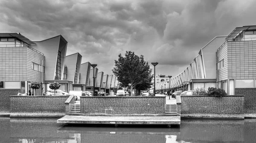
[{"label": "dark canal water with reflections in the foreground", "polygon": [[57,124],[0,117],[0,143],[256,143],[256,119],[182,120],[180,126]]}]

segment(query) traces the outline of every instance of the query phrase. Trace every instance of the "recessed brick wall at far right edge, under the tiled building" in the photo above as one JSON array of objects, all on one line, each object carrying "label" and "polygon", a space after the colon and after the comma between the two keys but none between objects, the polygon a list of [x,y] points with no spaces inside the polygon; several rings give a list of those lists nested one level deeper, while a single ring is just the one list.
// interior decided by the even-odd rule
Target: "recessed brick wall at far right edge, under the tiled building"
[{"label": "recessed brick wall at far right edge, under the tiled building", "polygon": [[256,114],[256,88],[236,88],[236,95],[244,95],[244,114]]}]

